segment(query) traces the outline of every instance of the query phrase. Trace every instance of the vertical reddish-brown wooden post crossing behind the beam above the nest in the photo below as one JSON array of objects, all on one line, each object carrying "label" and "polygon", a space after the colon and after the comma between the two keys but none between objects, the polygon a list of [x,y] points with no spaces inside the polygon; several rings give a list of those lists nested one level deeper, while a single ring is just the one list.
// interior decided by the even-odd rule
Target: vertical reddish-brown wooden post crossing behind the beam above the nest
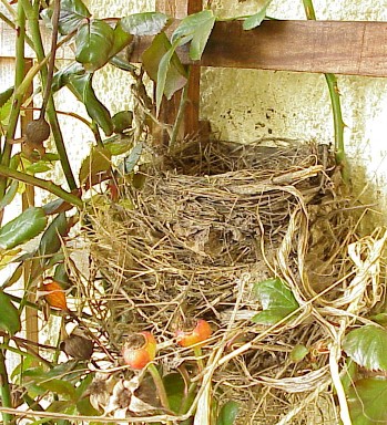
[{"label": "vertical reddish-brown wooden post crossing behind the beam above the nest", "polygon": [[[187,14],[196,13],[202,10],[202,0],[156,0],[156,10],[169,14],[175,19],[183,19]],[[189,101],[185,106],[184,121],[179,136],[195,135],[200,131],[198,107],[200,107],[200,79],[201,66],[191,65],[189,84]],[[179,111],[181,93],[175,93],[171,101],[163,101],[160,112],[160,120],[165,124],[173,124]],[[163,143],[166,143],[166,135]]]}]

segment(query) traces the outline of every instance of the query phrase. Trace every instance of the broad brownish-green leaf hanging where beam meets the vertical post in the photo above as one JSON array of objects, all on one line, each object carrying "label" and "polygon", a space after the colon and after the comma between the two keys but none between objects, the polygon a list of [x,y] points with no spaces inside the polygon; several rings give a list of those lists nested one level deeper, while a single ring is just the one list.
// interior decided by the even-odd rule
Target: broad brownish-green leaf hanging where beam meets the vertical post
[{"label": "broad brownish-green leaf hanging where beam meets the vertical post", "polygon": [[[170,40],[162,32],[153,39],[150,48],[142,54],[144,70],[156,83],[159,103],[161,103],[163,93],[166,99],[171,99],[175,92],[184,87],[187,81],[185,68],[174,52],[174,49],[172,50]],[[161,61],[166,54],[169,55],[167,61],[164,63],[164,68],[160,70]]]}]

